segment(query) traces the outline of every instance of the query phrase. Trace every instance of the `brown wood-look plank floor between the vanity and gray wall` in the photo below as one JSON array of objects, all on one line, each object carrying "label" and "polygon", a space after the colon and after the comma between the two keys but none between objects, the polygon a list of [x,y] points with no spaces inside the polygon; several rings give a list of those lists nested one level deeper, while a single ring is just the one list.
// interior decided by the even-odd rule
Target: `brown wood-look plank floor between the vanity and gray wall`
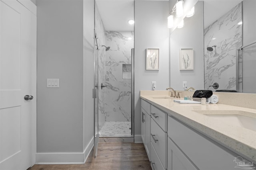
[{"label": "brown wood-look plank floor between the vanity and gray wall", "polygon": [[28,170],[151,170],[143,143],[99,143],[98,155],[93,150],[85,164],[34,165]]}]

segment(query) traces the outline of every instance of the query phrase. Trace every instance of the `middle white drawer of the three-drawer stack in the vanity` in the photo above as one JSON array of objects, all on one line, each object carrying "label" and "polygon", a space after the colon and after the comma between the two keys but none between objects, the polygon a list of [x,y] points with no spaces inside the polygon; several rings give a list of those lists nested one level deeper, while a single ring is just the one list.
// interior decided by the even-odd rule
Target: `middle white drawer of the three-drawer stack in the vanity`
[{"label": "middle white drawer of the three-drawer stack in the vanity", "polygon": [[167,133],[164,132],[152,119],[150,136],[150,141],[154,146],[162,165],[164,168],[167,168]]}]

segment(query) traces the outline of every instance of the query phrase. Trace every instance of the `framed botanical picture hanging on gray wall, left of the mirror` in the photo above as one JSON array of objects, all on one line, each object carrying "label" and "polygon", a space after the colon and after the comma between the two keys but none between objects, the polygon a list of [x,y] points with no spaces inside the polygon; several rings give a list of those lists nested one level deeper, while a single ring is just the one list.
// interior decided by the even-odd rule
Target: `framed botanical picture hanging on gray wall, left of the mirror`
[{"label": "framed botanical picture hanging on gray wall, left of the mirror", "polygon": [[159,48],[146,49],[146,70],[159,70]]}]

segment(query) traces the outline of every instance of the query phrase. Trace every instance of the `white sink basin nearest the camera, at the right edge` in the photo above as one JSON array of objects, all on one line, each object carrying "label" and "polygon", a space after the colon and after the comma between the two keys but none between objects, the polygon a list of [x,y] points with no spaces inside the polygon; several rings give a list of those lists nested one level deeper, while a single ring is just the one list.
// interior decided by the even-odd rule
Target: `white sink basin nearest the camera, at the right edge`
[{"label": "white sink basin nearest the camera, at the right edge", "polygon": [[256,131],[256,113],[241,110],[192,110],[214,120]]}]

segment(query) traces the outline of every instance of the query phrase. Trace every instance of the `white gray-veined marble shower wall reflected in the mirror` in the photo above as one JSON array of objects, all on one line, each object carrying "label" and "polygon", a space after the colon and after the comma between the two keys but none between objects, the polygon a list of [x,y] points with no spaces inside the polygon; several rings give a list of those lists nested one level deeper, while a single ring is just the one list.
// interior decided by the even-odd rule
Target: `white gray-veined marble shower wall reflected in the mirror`
[{"label": "white gray-veined marble shower wall reflected in the mirror", "polygon": [[[242,46],[242,3],[204,29],[204,87],[236,90],[236,49]],[[215,47],[212,47],[216,45]],[[212,47],[213,51],[207,51]]]}]

